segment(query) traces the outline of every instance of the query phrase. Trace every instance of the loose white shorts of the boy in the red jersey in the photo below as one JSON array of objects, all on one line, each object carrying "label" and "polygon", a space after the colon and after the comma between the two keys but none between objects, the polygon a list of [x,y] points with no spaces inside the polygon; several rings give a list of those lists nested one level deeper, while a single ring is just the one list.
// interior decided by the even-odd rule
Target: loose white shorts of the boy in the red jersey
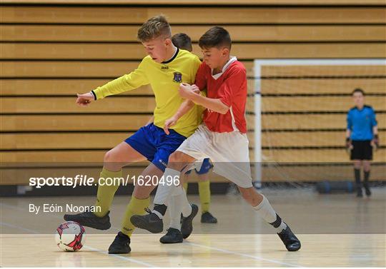
[{"label": "loose white shorts of the boy in the red jersey", "polygon": [[197,161],[210,158],[214,173],[229,179],[242,188],[252,187],[249,166],[248,138],[244,133],[216,133],[201,124],[176,151],[181,151]]}]

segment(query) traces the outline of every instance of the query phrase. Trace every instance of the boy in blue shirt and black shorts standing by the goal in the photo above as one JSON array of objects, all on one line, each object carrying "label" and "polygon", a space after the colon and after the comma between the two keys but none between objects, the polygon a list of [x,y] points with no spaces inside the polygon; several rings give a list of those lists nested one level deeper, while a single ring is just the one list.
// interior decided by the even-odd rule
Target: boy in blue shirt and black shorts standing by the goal
[{"label": "boy in blue shirt and black shorts standing by the goal", "polygon": [[[365,105],[365,92],[361,88],[352,91],[355,106],[347,113],[346,147],[350,151],[350,159],[354,162],[355,185],[357,197],[362,197],[362,186],[366,196],[371,196],[369,188],[370,161],[372,149],[379,146],[377,120],[371,106]],[[360,169],[363,166],[363,185]]]}]

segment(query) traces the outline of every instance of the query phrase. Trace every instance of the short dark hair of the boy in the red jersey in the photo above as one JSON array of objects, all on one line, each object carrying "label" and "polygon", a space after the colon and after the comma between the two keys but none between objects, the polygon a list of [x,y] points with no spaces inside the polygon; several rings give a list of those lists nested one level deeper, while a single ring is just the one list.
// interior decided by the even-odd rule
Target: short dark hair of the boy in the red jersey
[{"label": "short dark hair of the boy in the red jersey", "polygon": [[219,26],[212,27],[199,39],[199,47],[202,49],[210,49],[214,47],[221,49],[225,47],[230,50],[231,46],[232,40],[228,31]]}]

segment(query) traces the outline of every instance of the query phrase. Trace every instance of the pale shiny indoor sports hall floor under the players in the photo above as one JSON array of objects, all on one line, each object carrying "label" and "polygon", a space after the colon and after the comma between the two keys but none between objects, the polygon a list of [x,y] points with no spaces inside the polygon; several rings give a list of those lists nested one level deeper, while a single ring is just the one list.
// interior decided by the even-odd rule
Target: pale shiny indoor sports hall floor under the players
[{"label": "pale shiny indoor sports hall floor under the players", "polygon": [[[313,267],[386,266],[386,188],[373,188],[371,198],[352,194],[319,195],[313,191],[264,190],[277,212],[302,241],[289,253],[277,235],[240,196],[212,196],[217,224],[194,221],[194,234],[184,243],[162,245],[161,234],[137,230],[132,253],[108,255],[129,197],[117,196],[112,228],[98,233],[86,228],[86,244],[77,253],[61,252],[54,230],[63,213],[29,213],[29,203],[91,205],[94,198],[1,198],[1,267]],[[189,200],[199,203],[198,196]],[[21,254],[22,253],[22,254]]]}]

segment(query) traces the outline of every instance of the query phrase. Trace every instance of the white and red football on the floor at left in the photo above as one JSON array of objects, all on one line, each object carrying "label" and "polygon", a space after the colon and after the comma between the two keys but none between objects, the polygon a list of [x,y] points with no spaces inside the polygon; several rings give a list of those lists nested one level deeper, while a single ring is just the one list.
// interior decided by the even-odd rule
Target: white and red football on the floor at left
[{"label": "white and red football on the floor at left", "polygon": [[78,251],[84,245],[84,228],[75,221],[61,223],[56,229],[56,245],[64,251]]}]

